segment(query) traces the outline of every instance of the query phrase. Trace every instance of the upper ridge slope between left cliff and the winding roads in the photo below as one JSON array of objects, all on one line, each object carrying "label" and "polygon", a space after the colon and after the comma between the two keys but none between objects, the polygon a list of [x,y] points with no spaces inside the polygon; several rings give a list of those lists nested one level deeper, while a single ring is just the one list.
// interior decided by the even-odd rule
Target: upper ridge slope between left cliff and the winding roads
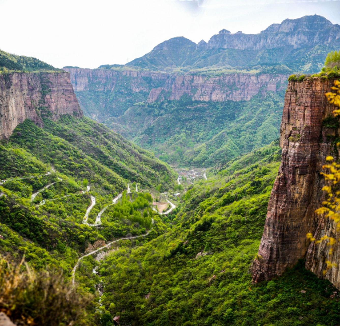
[{"label": "upper ridge slope between left cliff and the winding roads", "polygon": [[151,153],[88,118],[64,115],[57,123],[45,119],[44,129],[26,120],[16,128],[11,141],[60,172],[90,178],[96,171],[101,182],[111,181],[121,187],[126,184],[122,178],[142,186],[169,186],[173,181],[169,176],[175,177]]}]

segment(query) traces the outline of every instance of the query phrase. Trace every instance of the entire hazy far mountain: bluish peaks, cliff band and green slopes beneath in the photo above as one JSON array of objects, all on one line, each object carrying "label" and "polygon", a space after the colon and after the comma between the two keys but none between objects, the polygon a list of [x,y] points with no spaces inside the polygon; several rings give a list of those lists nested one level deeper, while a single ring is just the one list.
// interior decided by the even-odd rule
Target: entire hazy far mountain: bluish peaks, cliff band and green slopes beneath
[{"label": "entire hazy far mountain: bluish peaks, cliff band and green slopes beneath", "polygon": [[198,44],[174,37],[126,65],[64,70],[85,115],[166,162],[209,167],[275,140],[288,76],[318,73],[339,48],[340,26],[313,15]]}]

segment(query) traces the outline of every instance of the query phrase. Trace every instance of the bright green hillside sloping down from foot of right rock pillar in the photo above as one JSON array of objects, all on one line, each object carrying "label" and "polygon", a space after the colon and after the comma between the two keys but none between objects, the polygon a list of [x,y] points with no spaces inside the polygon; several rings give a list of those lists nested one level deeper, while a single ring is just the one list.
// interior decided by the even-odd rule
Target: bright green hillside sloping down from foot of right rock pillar
[{"label": "bright green hillside sloping down from foot of right rock pillar", "polygon": [[[119,315],[122,325],[338,325],[339,302],[329,298],[333,287],[302,264],[270,282],[251,283],[248,271],[279,161],[275,144],[233,161],[183,195],[168,233],[143,245],[122,244],[101,262],[87,259],[81,281],[102,282],[102,320]],[[98,275],[91,276],[93,268]]]}]

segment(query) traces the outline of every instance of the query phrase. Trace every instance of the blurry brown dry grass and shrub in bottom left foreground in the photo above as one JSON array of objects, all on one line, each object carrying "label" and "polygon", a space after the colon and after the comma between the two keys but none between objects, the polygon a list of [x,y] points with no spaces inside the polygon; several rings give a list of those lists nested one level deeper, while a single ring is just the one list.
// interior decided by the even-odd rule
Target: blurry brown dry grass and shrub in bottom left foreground
[{"label": "blurry brown dry grass and shrub in bottom left foreground", "polygon": [[36,272],[0,256],[0,311],[18,325],[82,324],[91,297],[80,296],[62,273]]}]

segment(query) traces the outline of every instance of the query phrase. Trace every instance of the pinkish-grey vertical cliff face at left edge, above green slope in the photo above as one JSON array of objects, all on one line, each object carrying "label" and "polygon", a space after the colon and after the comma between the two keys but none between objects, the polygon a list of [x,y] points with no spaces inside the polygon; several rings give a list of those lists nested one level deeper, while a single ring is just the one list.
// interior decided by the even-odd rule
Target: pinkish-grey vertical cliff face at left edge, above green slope
[{"label": "pinkish-grey vertical cliff face at left edge, above green slope", "polygon": [[0,75],[0,139],[9,138],[25,119],[42,126],[41,117],[83,115],[66,72]]}]

